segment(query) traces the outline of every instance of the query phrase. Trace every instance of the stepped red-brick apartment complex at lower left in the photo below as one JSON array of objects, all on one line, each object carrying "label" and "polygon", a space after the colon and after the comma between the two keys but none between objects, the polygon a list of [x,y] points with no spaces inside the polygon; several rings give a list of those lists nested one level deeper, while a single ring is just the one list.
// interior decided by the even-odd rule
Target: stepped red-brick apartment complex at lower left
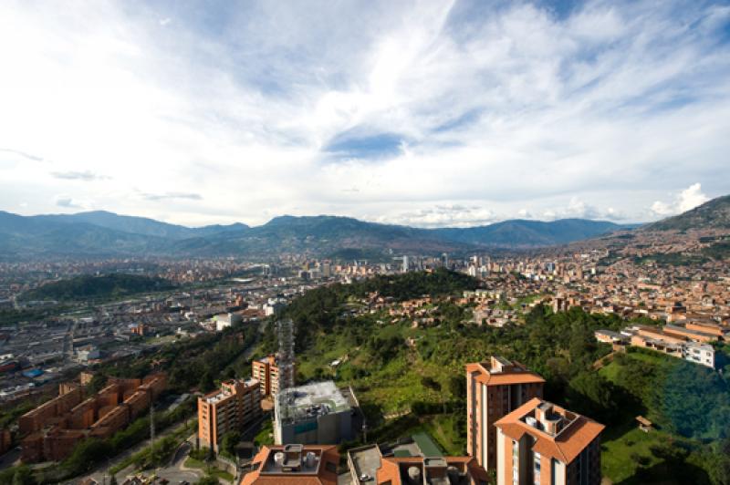
[{"label": "stepped red-brick apartment complex at lower left", "polygon": [[18,420],[21,459],[26,463],[68,457],[78,441],[108,439],[137,418],[162,394],[164,374],[144,379],[110,378],[96,396],[86,397],[78,384],[59,386],[58,397],[27,412]]}]

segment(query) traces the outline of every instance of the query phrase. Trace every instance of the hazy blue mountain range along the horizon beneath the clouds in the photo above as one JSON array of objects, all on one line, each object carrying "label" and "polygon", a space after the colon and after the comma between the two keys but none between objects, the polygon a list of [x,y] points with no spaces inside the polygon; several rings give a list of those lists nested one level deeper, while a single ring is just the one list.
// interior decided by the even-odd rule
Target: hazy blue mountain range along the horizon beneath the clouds
[{"label": "hazy blue mountain range along the horizon beneath the clouds", "polygon": [[[641,230],[730,228],[730,196]],[[0,258],[274,256],[281,253],[441,253],[535,248],[590,239],[631,226],[586,219],[512,220],[470,228],[422,229],[339,216],[280,216],[266,224],[198,228],[113,212],[21,216],[0,212]]]}]

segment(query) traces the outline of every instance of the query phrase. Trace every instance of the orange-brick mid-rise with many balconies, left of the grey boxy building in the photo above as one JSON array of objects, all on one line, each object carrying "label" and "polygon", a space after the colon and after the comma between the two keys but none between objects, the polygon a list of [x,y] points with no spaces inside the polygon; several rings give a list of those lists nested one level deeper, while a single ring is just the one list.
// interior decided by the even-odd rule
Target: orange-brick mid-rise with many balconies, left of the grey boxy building
[{"label": "orange-brick mid-rise with many balconies, left of the grey boxy building", "polygon": [[261,418],[261,390],[256,379],[229,380],[221,388],[198,397],[198,439],[201,446],[213,447],[225,433],[243,431]]}]

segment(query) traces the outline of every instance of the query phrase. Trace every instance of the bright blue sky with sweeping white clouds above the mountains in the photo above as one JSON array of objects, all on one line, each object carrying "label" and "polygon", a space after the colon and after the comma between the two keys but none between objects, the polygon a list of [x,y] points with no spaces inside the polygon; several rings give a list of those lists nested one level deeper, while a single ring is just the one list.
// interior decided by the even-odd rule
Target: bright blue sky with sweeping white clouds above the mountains
[{"label": "bright blue sky with sweeping white clouds above the mountains", "polygon": [[0,2],[0,210],[647,222],[730,193],[730,2]]}]

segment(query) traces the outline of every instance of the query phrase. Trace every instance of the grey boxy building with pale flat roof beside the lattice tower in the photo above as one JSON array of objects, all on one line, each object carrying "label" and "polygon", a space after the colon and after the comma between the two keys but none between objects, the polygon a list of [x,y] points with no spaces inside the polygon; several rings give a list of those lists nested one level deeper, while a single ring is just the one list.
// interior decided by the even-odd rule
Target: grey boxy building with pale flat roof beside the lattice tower
[{"label": "grey boxy building with pale flat roof beside the lattice tower", "polygon": [[276,444],[337,444],[352,439],[352,408],[332,381],[289,387],[276,397]]}]

